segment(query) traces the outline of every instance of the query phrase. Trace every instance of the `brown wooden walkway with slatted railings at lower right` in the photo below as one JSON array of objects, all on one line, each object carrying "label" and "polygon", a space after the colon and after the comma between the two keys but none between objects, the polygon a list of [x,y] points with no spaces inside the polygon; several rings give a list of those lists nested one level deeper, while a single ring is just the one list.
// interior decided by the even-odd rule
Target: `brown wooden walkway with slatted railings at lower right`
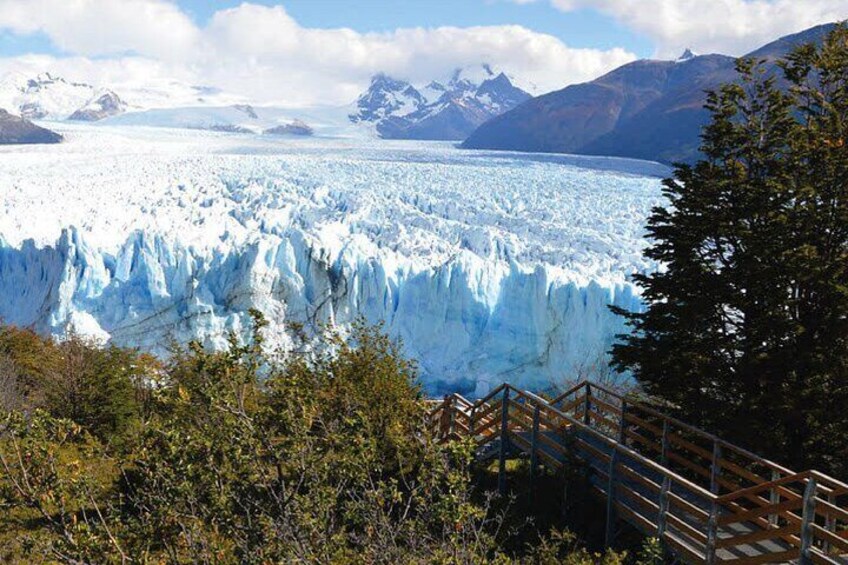
[{"label": "brown wooden walkway with slatted railings at lower right", "polygon": [[473,438],[478,460],[499,460],[502,491],[509,458],[529,457],[531,477],[578,461],[604,497],[608,543],[624,520],[688,563],[848,565],[848,484],[597,384],[550,400],[508,384],[477,402],[453,394],[430,417],[441,439]]}]

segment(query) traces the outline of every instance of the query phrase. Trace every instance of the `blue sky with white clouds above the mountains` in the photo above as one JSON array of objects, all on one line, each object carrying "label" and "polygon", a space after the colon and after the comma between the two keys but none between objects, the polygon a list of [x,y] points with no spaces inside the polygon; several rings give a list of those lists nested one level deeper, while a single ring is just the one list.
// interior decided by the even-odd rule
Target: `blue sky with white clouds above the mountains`
[{"label": "blue sky with white clouds above the mountains", "polygon": [[845,18],[846,0],[0,0],[0,74],[308,106],[348,103],[377,72],[423,84],[487,63],[540,94]]}]

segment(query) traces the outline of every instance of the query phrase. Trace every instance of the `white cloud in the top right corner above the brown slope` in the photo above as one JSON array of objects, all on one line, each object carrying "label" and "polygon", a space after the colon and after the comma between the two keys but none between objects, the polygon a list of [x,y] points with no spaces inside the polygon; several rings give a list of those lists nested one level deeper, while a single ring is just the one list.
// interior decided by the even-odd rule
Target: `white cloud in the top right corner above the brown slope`
[{"label": "white cloud in the top right corner above the brown slope", "polygon": [[564,12],[586,8],[608,14],[651,38],[663,57],[676,56],[686,47],[700,53],[744,55],[778,37],[848,18],[845,0],[550,2]]}]

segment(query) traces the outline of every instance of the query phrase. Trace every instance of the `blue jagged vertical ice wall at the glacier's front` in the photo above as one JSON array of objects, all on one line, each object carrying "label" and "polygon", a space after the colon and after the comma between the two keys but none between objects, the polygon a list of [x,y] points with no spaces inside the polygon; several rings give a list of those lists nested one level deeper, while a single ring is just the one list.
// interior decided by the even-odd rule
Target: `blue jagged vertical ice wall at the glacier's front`
[{"label": "blue jagged vertical ice wall at the glacier's front", "polygon": [[344,326],[363,316],[403,340],[434,393],[480,393],[504,380],[548,386],[597,361],[623,329],[609,304],[640,307],[627,283],[558,280],[543,266],[470,251],[425,268],[356,245],[333,255],[298,230],[213,251],[134,232],[110,254],[74,228],[49,246],[0,240],[6,323],[74,326],[163,352],[172,338],[223,346],[249,324],[249,308],[266,314],[283,346],[286,321]]}]

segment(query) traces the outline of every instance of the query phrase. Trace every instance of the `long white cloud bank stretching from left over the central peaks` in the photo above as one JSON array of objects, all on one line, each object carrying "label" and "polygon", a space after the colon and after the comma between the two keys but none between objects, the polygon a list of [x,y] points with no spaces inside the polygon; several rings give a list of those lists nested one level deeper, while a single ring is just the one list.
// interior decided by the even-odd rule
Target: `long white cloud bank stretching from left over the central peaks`
[{"label": "long white cloud bank stretching from left over the central peaks", "polygon": [[112,83],[175,77],[286,104],[349,102],[380,71],[421,82],[482,62],[545,92],[635,58],[624,49],[571,48],[521,26],[312,29],[280,6],[248,3],[199,27],[163,0],[0,0],[0,29],[43,32],[69,53],[0,60],[0,70],[76,68],[69,78]]}]

